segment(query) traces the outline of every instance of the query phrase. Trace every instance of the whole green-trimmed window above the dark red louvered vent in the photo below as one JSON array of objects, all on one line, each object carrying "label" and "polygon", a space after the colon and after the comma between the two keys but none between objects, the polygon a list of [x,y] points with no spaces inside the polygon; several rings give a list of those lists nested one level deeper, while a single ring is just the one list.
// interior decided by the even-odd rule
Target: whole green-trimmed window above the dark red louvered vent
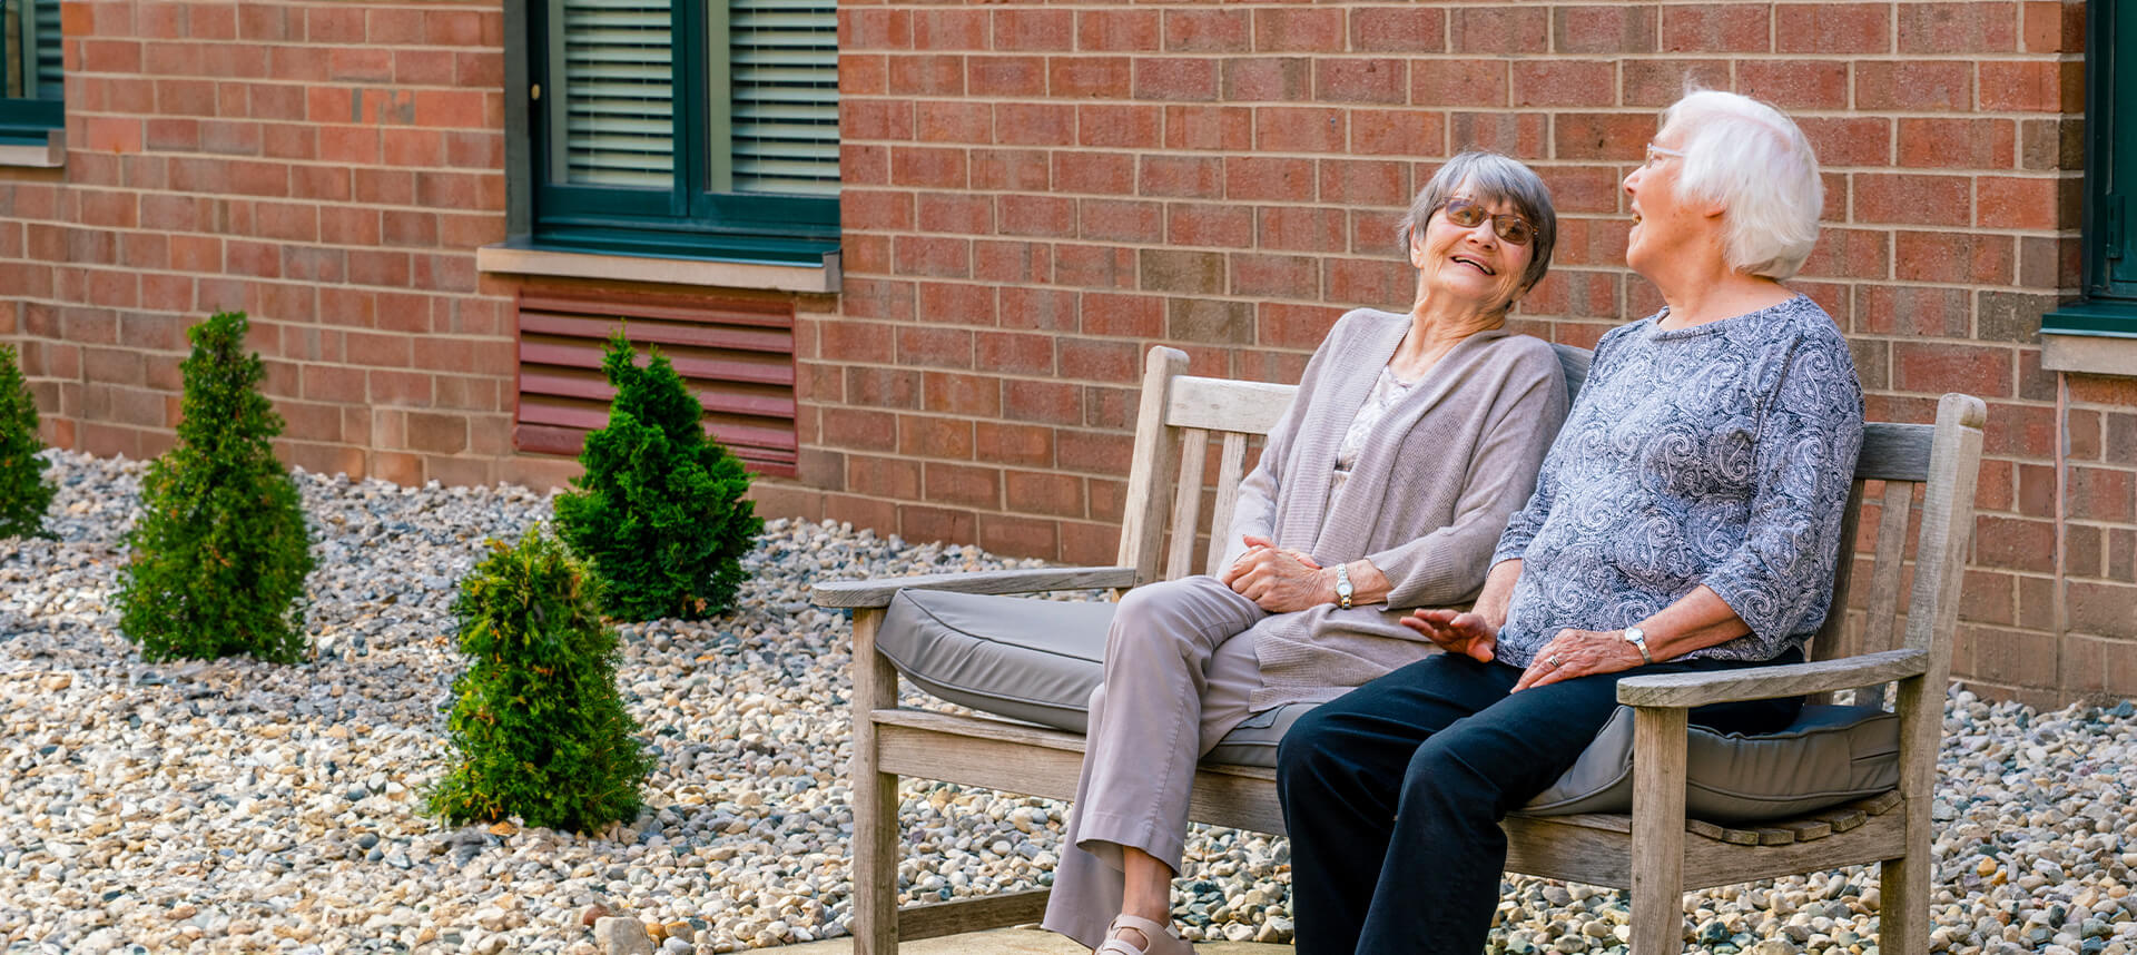
[{"label": "whole green-trimmed window above the dark red louvered vent", "polygon": [[836,0],[532,4],[534,241],[823,263]]}]

